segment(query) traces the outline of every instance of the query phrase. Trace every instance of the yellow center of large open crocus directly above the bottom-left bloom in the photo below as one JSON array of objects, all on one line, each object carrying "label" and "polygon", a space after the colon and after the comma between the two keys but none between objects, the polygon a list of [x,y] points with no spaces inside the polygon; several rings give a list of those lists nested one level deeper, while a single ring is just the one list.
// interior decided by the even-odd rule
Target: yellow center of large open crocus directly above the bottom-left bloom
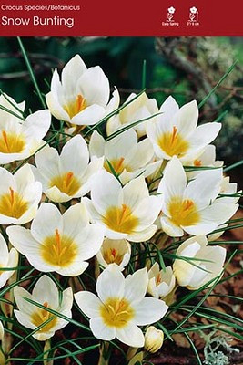
[{"label": "yellow center of large open crocus directly above the bottom-left bloom", "polygon": [[76,243],[66,235],[60,235],[58,229],[55,235],[46,237],[41,245],[41,255],[46,263],[66,267],[71,265],[77,255]]}]

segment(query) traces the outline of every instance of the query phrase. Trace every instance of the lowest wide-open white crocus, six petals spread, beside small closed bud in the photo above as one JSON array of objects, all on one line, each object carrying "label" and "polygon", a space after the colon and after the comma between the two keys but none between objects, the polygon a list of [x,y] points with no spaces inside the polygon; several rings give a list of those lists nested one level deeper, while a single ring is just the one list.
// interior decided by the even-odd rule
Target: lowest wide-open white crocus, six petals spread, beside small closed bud
[{"label": "lowest wide-open white crocus, six petals spread, beside small closed bud", "polygon": [[157,322],[167,312],[164,301],[145,297],[147,282],[147,268],[125,278],[113,264],[98,276],[97,296],[88,291],[75,294],[79,308],[91,318],[90,328],[97,339],[117,338],[128,346],[144,346],[143,332],[137,326]]}]

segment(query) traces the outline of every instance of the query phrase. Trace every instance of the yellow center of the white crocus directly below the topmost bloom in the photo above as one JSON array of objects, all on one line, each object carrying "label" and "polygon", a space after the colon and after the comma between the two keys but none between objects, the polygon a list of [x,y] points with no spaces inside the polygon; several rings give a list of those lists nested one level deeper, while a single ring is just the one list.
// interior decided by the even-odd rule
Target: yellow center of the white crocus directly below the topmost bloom
[{"label": "yellow center of the white crocus directly below the topmost bloom", "polygon": [[50,187],[52,188],[53,186],[56,186],[60,192],[73,196],[80,188],[80,183],[73,172],[66,172],[63,175],[55,176],[51,180]]}]

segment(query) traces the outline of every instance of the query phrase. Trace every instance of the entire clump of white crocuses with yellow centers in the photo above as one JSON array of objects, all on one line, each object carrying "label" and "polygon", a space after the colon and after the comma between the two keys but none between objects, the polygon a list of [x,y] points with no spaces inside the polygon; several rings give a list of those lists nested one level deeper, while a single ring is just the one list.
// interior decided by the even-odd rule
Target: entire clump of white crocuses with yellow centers
[{"label": "entire clump of white crocuses with yellow centers", "polygon": [[[223,275],[227,251],[212,240],[241,193],[210,144],[221,124],[197,126],[196,100],[179,107],[170,96],[158,109],[143,92],[122,104],[79,55],[61,78],[55,70],[46,103],[23,118],[25,103],[0,97],[1,357],[14,327],[33,351],[45,341],[48,365],[67,343],[100,347],[99,364],[114,343],[124,364],[142,348],[148,359],[174,333],[179,287],[208,289]],[[55,135],[51,114],[66,122]]]}]

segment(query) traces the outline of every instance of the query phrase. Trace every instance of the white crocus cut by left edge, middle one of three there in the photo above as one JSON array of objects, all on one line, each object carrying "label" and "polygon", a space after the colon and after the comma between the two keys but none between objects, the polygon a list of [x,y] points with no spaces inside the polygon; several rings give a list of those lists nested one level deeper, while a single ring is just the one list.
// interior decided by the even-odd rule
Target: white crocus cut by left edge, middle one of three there
[{"label": "white crocus cut by left edge, middle one of three there", "polygon": [[36,214],[41,200],[41,183],[29,164],[25,164],[13,175],[0,167],[0,224],[25,224]]}]

